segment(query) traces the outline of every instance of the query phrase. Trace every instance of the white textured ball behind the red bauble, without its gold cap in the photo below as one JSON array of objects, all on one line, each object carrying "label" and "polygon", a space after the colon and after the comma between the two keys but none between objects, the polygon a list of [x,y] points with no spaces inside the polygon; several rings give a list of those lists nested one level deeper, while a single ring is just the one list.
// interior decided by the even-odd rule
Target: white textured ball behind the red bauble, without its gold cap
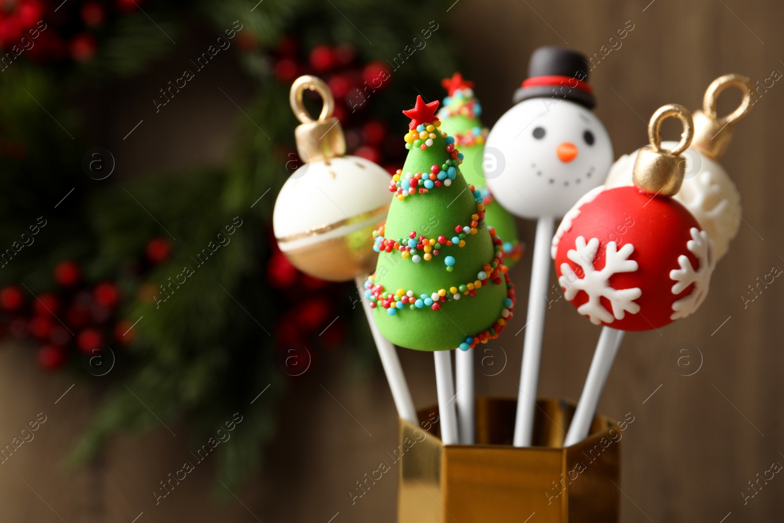
[{"label": "white textured ball behind the red bauble, without its gold cap", "polygon": [[[662,147],[671,149],[675,142],[664,142]],[[608,187],[633,185],[632,170],[637,152],[624,154],[610,168]],[[716,259],[720,260],[729,250],[729,244],[741,222],[740,194],[727,172],[718,162],[707,158],[695,149],[688,148],[686,173],[681,191],[675,199],[694,215],[699,227],[713,240]]]}]

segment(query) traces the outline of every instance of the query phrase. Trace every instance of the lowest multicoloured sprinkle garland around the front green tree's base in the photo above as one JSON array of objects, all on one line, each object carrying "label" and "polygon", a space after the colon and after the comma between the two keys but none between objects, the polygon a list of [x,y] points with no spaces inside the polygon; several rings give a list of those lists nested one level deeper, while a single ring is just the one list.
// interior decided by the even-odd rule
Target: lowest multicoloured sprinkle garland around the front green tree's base
[{"label": "lowest multicoloured sprinkle garland around the front green tree's base", "polygon": [[387,314],[390,316],[397,314],[397,311],[405,308],[406,305],[412,311],[423,309],[424,307],[430,307],[430,310],[438,311],[441,309],[442,303],[459,300],[461,296],[476,296],[477,289],[489,285],[488,281],[492,281],[495,285],[501,285],[503,282],[506,284],[506,299],[503,301],[504,308],[501,311],[501,317],[485,332],[481,332],[476,336],[466,337],[466,340],[460,343],[458,348],[460,350],[473,349],[477,346],[477,343],[487,343],[488,340],[497,338],[506,326],[506,320],[514,315],[515,293],[514,284],[510,281],[509,274],[507,274],[506,265],[503,264],[503,241],[495,237],[495,229],[489,227],[488,230],[495,248],[495,258],[493,258],[491,263],[485,263],[482,270],[477,273],[476,281],[452,286],[449,289],[438,289],[436,292],[432,292],[430,296],[420,294],[419,297],[416,297],[412,290],[397,289],[395,292],[385,291],[383,285],[376,285],[376,273],[373,273],[365,280],[365,298],[370,301],[370,307],[383,307],[387,309]]}]

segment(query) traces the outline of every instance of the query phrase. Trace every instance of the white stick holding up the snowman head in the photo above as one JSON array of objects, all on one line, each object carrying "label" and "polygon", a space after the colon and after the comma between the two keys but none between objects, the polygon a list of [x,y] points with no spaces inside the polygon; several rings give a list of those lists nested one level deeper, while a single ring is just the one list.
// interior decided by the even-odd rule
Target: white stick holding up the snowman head
[{"label": "white stick holding up the snowman head", "polygon": [[528,289],[528,313],[525,318],[523,365],[520,372],[520,391],[517,394],[517,419],[514,422],[514,446],[530,447],[536,389],[539,387],[539,361],[542,359],[544,315],[547,303],[547,283],[550,281],[550,244],[553,222],[541,217],[536,222],[536,238],[531,267],[531,286]]}]

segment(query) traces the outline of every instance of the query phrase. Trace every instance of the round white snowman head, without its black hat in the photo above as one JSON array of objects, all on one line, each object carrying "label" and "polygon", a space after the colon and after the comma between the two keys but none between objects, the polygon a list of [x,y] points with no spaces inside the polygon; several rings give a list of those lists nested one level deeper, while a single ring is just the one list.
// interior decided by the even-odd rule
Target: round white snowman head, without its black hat
[{"label": "round white snowman head, without its black hat", "polygon": [[[536,138],[541,127],[544,136]],[[593,134],[593,143],[585,134]],[[572,143],[577,155],[558,158],[558,146]],[[495,200],[514,215],[557,218],[604,182],[612,164],[612,143],[593,112],[568,100],[532,98],[515,105],[493,126],[482,169]]]}]

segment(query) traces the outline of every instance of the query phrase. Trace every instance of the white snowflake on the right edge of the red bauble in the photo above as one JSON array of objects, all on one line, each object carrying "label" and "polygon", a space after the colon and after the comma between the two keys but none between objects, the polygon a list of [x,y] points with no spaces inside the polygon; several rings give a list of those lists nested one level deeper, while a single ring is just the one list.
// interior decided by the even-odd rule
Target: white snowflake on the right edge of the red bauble
[{"label": "white snowflake on the right edge of the red bauble", "polygon": [[713,240],[708,238],[705,231],[699,231],[697,227],[691,227],[689,232],[691,232],[691,240],[686,242],[686,248],[697,257],[699,270],[695,271],[688,256],[681,254],[678,256],[678,264],[681,268],[670,271],[670,278],[676,282],[673,285],[673,294],[681,294],[689,285],[694,284],[694,288],[687,296],[673,303],[673,314],[670,316],[670,319],[673,320],[686,318],[702,305],[705,296],[708,295],[710,275],[713,274],[713,268],[716,267],[716,257],[713,256]]}]

